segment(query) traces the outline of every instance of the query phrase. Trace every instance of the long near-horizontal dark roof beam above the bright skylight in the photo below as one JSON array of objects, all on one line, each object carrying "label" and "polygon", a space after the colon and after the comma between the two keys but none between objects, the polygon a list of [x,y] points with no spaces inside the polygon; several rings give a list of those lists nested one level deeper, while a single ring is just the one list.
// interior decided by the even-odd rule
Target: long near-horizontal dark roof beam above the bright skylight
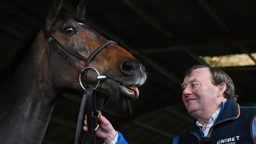
[{"label": "long near-horizontal dark roof beam above the bright skylight", "polygon": [[163,51],[165,49],[183,50],[196,48],[200,45],[212,44],[250,44],[256,41],[256,32],[224,32],[220,34],[211,35],[188,35],[183,37],[162,38],[162,39],[149,39],[140,41],[127,41],[129,46],[137,51]]}]

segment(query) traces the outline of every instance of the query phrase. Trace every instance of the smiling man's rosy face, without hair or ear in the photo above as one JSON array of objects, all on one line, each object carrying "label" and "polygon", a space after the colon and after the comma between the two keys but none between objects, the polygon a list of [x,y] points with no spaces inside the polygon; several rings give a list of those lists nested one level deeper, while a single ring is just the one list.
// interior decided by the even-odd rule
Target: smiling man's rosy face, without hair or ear
[{"label": "smiling man's rosy face, without hair or ear", "polygon": [[199,68],[186,76],[182,84],[182,100],[189,114],[204,114],[217,103],[218,86],[212,84],[208,68]]}]

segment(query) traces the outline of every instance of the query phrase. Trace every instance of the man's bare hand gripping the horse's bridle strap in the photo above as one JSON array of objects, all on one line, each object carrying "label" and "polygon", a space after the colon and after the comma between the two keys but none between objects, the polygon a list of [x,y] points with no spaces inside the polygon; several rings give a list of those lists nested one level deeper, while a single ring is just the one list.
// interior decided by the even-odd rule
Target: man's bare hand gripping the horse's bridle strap
[{"label": "man's bare hand gripping the horse's bridle strap", "polygon": [[[84,130],[87,131],[87,116],[85,115]],[[99,127],[97,129],[96,136],[105,140],[109,144],[116,136],[116,130],[111,123],[100,113],[98,120]]]}]

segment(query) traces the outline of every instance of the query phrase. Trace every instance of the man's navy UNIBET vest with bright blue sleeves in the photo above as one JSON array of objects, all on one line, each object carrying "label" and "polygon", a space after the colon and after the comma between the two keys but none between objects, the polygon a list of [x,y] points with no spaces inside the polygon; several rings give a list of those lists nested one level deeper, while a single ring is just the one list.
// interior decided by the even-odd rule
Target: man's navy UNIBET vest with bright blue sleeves
[{"label": "man's navy UNIBET vest with bright blue sleeves", "polygon": [[[203,136],[200,128],[195,124],[180,137],[174,138],[172,144],[199,144]],[[228,144],[233,141],[239,144],[256,144],[255,138],[256,107],[241,107],[233,99],[222,102],[221,112],[212,130],[209,131],[209,141],[213,142],[212,144]],[[128,144],[120,132],[116,144]]]}]

